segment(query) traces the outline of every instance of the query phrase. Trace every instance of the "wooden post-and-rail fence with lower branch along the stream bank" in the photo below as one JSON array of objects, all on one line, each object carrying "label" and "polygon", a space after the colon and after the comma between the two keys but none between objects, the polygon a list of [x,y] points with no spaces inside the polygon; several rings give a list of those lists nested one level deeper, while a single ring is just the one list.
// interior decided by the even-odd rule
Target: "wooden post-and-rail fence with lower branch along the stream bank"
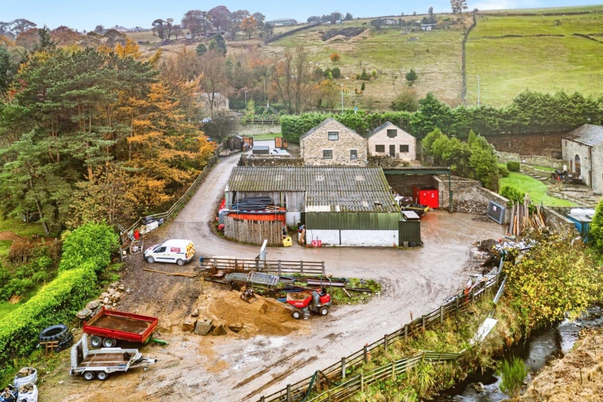
[{"label": "wooden post-and-rail fence with lower branch along the stream bank", "polygon": [[[432,310],[432,312],[422,315],[408,324],[404,324],[399,330],[394,331],[391,334],[385,334],[385,336],[378,341],[365,345],[361,350],[350,354],[350,356],[342,357],[338,362],[321,370],[320,373],[333,385],[333,388],[327,389],[326,391],[321,391],[317,388],[317,385],[314,382],[314,377],[319,372],[317,371],[312,377],[304,378],[294,384],[288,384],[286,388],[274,392],[273,394],[262,396],[259,399],[259,402],[343,401],[356,392],[364,391],[364,388],[370,383],[392,375],[395,377],[421,361],[434,362],[455,360],[456,357],[459,356],[458,353],[423,351],[413,356],[397,360],[397,362],[388,363],[388,365],[381,366],[373,371],[346,378],[346,371],[368,362],[368,355],[371,351],[383,350],[387,352],[393,341],[397,339],[406,341],[410,337],[423,333],[428,328],[442,324],[444,319],[448,316],[466,312],[470,303],[484,297],[490,289],[498,291],[496,293],[498,296],[500,292],[502,292],[499,287],[504,286],[504,283],[502,283],[504,277],[502,274],[502,264],[503,261],[500,262],[498,273],[493,278],[476,284],[469,292],[462,292],[461,294],[456,295],[456,297],[448,303]],[[326,381],[323,382],[323,385],[325,384]],[[309,398],[309,394],[311,393],[315,396]]]}]

